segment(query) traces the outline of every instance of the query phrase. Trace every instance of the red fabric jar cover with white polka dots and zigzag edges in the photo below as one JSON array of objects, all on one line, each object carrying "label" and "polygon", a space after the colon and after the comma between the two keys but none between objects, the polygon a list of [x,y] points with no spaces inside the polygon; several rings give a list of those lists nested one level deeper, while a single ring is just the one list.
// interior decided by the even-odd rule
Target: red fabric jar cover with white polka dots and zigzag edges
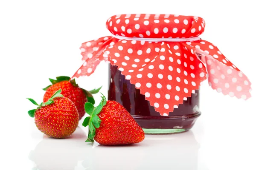
[{"label": "red fabric jar cover with white polka dots and zigzag edges", "polygon": [[84,42],[84,61],[73,77],[90,76],[101,61],[117,65],[162,116],[168,116],[202,81],[224,95],[248,99],[250,81],[218,50],[201,40],[201,17],[122,14],[110,17],[113,36]]}]

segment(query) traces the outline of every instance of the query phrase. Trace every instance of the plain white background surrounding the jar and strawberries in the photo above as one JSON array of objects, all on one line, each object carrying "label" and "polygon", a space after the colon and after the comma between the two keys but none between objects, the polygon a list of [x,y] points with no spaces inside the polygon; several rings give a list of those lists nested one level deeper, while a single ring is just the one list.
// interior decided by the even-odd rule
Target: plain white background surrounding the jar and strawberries
[{"label": "plain white background surrounding the jar and strawberries", "polygon": [[[203,17],[206,28],[200,37],[217,45],[249,77],[255,89],[253,0],[1,0],[0,169],[58,170],[61,164],[65,167],[62,169],[94,170],[97,168],[91,164],[103,161],[102,169],[151,169],[157,165],[163,170],[255,170],[254,90],[253,97],[243,101],[218,94],[204,82],[202,115],[192,130],[173,136],[146,136],[135,149],[92,147],[84,142],[86,129],[81,125],[74,134],[77,138],[65,140],[48,139],[36,129],[27,114],[34,106],[25,98],[41,102],[41,88],[49,85],[48,78],[72,76],[81,65],[81,43],[109,35],[105,28],[108,17],[125,13]],[[77,82],[88,90],[103,85],[101,92],[106,95],[106,70],[102,63],[95,74]],[[96,99],[99,101],[99,96]],[[70,147],[73,145],[79,148]],[[75,159],[78,154],[89,153],[88,157]],[[33,161],[35,157],[39,157],[39,163]],[[86,159],[90,164],[84,165]],[[114,163],[116,160],[119,163]]]}]

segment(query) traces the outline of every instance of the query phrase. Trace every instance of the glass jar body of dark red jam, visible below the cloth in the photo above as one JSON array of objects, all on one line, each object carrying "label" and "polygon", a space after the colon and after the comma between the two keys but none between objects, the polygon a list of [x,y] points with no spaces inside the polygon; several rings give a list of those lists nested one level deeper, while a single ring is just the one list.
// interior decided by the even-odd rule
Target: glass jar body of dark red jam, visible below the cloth
[{"label": "glass jar body of dark red jam, visible below the cloth", "polygon": [[154,107],[140,94],[129,80],[121,74],[117,66],[109,66],[108,99],[122,104],[143,128],[145,133],[180,133],[189,130],[200,116],[199,90],[183,101],[169,116],[160,116]]}]

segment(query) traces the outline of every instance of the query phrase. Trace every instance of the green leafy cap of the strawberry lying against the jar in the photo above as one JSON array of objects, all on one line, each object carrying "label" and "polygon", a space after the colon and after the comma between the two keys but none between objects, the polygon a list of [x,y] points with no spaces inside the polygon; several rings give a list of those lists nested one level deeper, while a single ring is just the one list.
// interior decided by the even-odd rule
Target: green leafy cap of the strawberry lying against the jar
[{"label": "green leafy cap of the strawberry lying against the jar", "polygon": [[85,142],[94,142],[93,138],[96,135],[96,128],[99,128],[101,119],[99,119],[98,114],[102,110],[103,106],[107,103],[106,97],[102,94],[102,100],[98,106],[94,107],[92,103],[86,102],[84,105],[84,109],[86,113],[90,116],[86,117],[83,122],[83,126],[89,126],[88,138]]}]

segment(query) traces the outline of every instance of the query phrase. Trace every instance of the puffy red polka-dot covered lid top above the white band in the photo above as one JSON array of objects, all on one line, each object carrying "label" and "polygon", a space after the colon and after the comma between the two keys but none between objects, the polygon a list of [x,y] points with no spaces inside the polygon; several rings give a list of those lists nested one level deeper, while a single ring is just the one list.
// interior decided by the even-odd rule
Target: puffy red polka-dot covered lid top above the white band
[{"label": "puffy red polka-dot covered lid top above the white band", "polygon": [[201,17],[169,14],[122,14],[110,17],[108,30],[116,36],[141,38],[189,38],[204,32]]}]

